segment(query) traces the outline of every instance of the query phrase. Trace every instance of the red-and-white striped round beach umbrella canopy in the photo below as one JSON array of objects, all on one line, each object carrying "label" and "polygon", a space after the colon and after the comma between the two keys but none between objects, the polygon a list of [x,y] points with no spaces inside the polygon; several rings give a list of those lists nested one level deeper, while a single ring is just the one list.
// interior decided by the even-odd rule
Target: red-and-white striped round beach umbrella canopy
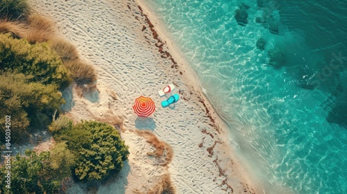
[{"label": "red-and-white striped round beach umbrella canopy", "polygon": [[137,116],[147,117],[154,112],[155,105],[151,98],[139,96],[139,98],[135,99],[135,105],[133,105],[133,109]]}]

